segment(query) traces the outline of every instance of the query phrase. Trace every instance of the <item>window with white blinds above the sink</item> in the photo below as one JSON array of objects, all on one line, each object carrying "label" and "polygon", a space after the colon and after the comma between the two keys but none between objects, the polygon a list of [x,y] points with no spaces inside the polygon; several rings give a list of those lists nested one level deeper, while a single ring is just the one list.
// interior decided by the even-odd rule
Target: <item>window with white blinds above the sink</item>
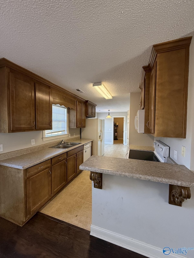
[{"label": "window with white blinds above the sink", "polygon": [[[52,105],[52,130],[45,130],[43,133],[44,138],[51,136],[65,136],[67,132],[67,108],[64,106]],[[56,138],[56,137],[54,137]],[[48,139],[48,138],[47,138]]]}]

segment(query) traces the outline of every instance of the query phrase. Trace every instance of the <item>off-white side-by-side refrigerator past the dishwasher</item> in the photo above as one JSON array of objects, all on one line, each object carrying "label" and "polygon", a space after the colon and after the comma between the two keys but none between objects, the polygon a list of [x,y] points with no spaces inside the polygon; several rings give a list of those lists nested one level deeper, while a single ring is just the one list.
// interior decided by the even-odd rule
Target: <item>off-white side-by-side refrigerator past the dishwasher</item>
[{"label": "off-white side-by-side refrigerator past the dishwasher", "polygon": [[104,119],[86,118],[82,139],[93,139],[93,155],[104,155]]}]

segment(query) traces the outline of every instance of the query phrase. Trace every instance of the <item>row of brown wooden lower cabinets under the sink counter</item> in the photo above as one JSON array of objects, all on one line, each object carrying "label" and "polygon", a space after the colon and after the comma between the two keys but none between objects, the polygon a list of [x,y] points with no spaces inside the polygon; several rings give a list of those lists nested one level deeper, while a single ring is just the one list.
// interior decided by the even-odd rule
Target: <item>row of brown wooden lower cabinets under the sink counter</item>
[{"label": "row of brown wooden lower cabinets under the sink counter", "polygon": [[83,145],[27,169],[0,165],[0,216],[23,226],[81,170]]}]

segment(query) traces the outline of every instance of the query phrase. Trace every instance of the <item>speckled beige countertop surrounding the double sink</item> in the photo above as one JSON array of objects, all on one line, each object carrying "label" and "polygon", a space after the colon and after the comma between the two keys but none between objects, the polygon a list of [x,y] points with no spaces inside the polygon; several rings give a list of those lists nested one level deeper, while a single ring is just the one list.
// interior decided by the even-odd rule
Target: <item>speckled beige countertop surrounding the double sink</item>
[{"label": "speckled beige countertop surrounding the double sink", "polygon": [[[80,144],[75,145],[68,149],[55,149],[55,148],[46,147],[45,149],[26,153],[23,155],[18,155],[12,158],[3,159],[0,161],[0,165],[12,167],[12,168],[26,169],[40,162],[53,158],[62,153],[68,152],[72,149],[75,149],[79,146],[82,146],[92,141],[93,141],[92,139],[77,139],[76,141],[71,141],[71,142],[80,142]],[[55,143],[53,143],[53,145],[51,144],[51,146],[55,146],[55,145],[56,145]]]}]

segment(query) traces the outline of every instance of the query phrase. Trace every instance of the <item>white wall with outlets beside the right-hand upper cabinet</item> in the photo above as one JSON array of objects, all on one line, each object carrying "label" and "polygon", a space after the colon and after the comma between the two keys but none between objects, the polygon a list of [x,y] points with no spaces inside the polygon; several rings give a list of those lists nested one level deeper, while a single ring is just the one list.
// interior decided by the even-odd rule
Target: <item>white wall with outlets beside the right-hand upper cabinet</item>
[{"label": "white wall with outlets beside the right-hand upper cabinet", "polygon": [[[180,165],[194,171],[194,38],[192,38],[189,50],[189,84],[187,101],[187,130],[186,139],[156,138],[170,146],[170,157],[174,159],[174,150],[177,151],[177,160]],[[186,147],[185,158],[181,155],[181,147]]]}]

